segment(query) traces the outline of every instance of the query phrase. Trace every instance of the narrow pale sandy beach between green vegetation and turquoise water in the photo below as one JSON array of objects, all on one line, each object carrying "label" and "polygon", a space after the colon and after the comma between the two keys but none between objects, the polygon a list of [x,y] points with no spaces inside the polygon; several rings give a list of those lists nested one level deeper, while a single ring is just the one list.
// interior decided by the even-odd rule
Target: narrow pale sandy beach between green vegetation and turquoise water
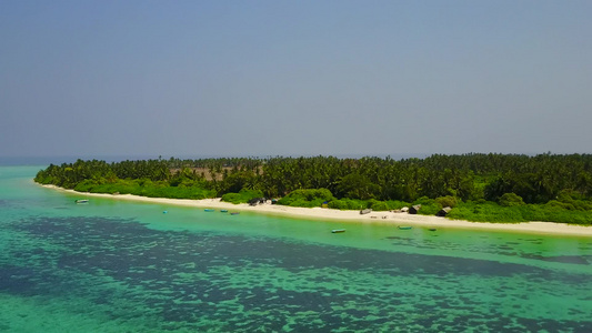
[{"label": "narrow pale sandy beach between green vegetation and turquoise water", "polygon": [[229,211],[249,211],[268,214],[278,214],[284,216],[294,216],[307,220],[334,220],[334,221],[352,221],[352,222],[365,222],[365,223],[389,223],[393,225],[421,225],[429,228],[454,228],[454,229],[472,229],[472,230],[499,230],[499,231],[516,231],[524,233],[536,234],[558,234],[558,235],[579,235],[579,236],[592,236],[592,226],[583,225],[570,225],[564,223],[552,222],[528,222],[528,223],[482,223],[482,222],[469,222],[459,220],[449,220],[438,216],[427,215],[412,215],[407,213],[393,213],[393,212],[372,212],[370,214],[361,215],[358,211],[339,211],[322,208],[293,208],[284,205],[272,204],[259,204],[251,206],[247,203],[232,204],[228,202],[221,202],[220,199],[203,199],[203,200],[189,200],[189,199],[165,199],[165,198],[147,198],[132,194],[100,194],[100,193],[82,193],[73,190],[66,190],[54,185],[43,185],[63,192],[72,194],[79,194],[81,196],[94,196],[94,198],[110,198],[114,200],[129,200],[139,202],[151,202],[160,204],[180,205],[180,206],[195,206],[195,208],[210,208],[210,209],[225,209]]}]

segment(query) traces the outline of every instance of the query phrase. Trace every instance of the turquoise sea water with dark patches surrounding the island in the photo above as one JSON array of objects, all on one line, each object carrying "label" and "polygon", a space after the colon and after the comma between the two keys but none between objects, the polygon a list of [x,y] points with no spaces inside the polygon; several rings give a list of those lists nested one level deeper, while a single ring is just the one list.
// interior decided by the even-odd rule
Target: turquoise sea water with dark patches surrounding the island
[{"label": "turquoise sea water with dark patches surrounding the island", "polygon": [[592,332],[592,238],[74,204],[39,169],[0,167],[0,332]]}]

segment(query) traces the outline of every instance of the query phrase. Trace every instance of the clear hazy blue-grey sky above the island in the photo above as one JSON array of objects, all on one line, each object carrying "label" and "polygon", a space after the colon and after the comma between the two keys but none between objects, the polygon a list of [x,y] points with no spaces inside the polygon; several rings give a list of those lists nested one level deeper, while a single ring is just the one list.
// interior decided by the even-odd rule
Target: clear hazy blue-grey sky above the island
[{"label": "clear hazy blue-grey sky above the island", "polygon": [[0,0],[0,157],[592,153],[592,1]]}]

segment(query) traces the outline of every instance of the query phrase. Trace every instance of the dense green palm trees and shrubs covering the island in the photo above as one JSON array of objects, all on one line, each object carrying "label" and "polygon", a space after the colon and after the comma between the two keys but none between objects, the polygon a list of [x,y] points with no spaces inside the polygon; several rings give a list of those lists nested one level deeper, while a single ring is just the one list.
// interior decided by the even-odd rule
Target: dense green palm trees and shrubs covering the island
[{"label": "dense green palm trees and shrubs covering the island", "polygon": [[[471,153],[434,154],[425,159],[399,161],[390,158],[334,157],[171,158],[113,163],[78,160],[74,163],[50,165],[39,171],[36,181],[77,191],[190,199],[228,193],[287,198],[297,190],[300,192],[294,192],[292,196],[303,193],[302,190],[324,189],[327,192],[322,192],[323,195],[312,200],[302,194],[298,200],[284,199],[283,202],[317,205],[323,200],[333,202],[331,205],[340,209],[369,205],[373,209],[395,209],[401,204],[418,202],[435,208],[452,200],[459,204],[452,211],[455,212],[451,212],[453,216],[462,213],[463,206],[466,209],[475,204],[486,205],[488,212],[499,205],[516,210],[513,206],[534,204],[555,211],[588,213],[592,198],[592,155]],[[241,195],[227,196],[249,196]],[[461,218],[468,214],[479,215],[479,212],[466,211]],[[508,212],[504,214],[508,215]],[[470,219],[480,220],[476,215]],[[524,212],[520,215],[522,218],[504,216],[501,220],[519,221],[526,219],[525,215],[530,216]],[[541,218],[540,214],[535,216]]]}]

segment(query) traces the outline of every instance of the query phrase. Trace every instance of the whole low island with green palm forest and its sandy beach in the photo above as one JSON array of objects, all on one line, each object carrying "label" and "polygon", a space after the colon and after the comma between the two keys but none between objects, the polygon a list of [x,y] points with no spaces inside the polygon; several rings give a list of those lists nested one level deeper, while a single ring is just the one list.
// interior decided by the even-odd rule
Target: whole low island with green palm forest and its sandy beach
[{"label": "whole low island with green palm forest and its sandy beach", "polygon": [[[590,154],[78,160],[49,165],[34,181],[134,200],[341,220],[592,225]],[[258,204],[250,205],[253,200]]]}]

